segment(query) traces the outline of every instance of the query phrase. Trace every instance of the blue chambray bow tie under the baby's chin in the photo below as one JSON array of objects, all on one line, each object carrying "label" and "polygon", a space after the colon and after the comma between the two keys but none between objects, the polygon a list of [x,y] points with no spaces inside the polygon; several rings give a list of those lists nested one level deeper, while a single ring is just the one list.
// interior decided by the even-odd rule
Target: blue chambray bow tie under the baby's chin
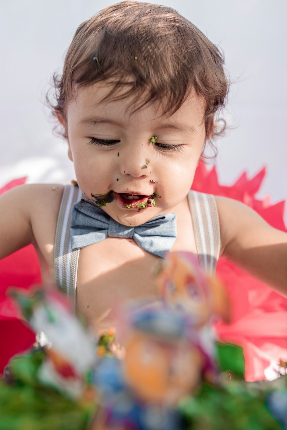
[{"label": "blue chambray bow tie under the baby's chin", "polygon": [[158,215],[144,224],[129,227],[114,221],[88,200],[74,203],[71,214],[71,246],[80,249],[107,237],[133,239],[145,251],[164,258],[176,240],[176,214]]}]

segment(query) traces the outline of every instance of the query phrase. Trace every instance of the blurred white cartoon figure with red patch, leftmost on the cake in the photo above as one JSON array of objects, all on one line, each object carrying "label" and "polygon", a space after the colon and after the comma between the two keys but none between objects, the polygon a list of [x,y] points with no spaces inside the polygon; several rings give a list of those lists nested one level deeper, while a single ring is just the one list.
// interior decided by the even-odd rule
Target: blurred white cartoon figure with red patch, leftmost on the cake
[{"label": "blurred white cartoon figure with red patch, leftmost on the cake", "polygon": [[86,372],[95,362],[95,344],[74,315],[70,302],[56,289],[36,290],[32,298],[25,298],[16,290],[10,294],[37,332],[34,347],[42,347],[45,352],[46,359],[38,369],[39,380],[67,391],[71,397],[82,396]]}]

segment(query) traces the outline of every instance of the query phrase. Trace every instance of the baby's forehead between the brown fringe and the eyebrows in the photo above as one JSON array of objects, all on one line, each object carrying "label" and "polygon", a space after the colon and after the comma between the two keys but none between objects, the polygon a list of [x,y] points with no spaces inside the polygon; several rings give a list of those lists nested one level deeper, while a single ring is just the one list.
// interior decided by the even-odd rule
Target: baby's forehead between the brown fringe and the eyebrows
[{"label": "baby's forehead between the brown fringe and the eyebrows", "polygon": [[[165,113],[168,96],[157,101],[145,104],[136,111],[144,100],[147,99],[148,90],[140,95],[129,95],[124,97],[130,86],[123,85],[112,92],[112,95],[105,99],[115,86],[114,81],[102,81],[89,86],[76,88],[74,98],[69,101],[67,107],[67,117],[73,117],[79,121],[90,114],[106,113],[111,116],[120,116],[125,120],[137,120],[145,117],[146,120],[156,119],[180,119],[182,116],[192,117],[198,124],[202,122],[205,112],[205,100],[196,94],[192,88],[183,102],[182,106],[172,115]],[[116,98],[116,99],[115,99]]]}]

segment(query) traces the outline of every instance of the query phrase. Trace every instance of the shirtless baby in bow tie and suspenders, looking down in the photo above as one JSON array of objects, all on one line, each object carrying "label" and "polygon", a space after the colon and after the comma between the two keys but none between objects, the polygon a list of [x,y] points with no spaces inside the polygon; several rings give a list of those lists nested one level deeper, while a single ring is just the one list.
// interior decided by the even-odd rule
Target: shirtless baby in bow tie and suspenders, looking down
[{"label": "shirtless baby in bow tie and suspenders, looking down", "polygon": [[0,258],[33,243],[43,284],[64,289],[95,330],[115,298],[156,296],[168,252],[198,255],[210,275],[222,256],[287,295],[287,234],[190,190],[229,88],[198,28],[165,6],[109,6],[78,27],[54,84],[77,182],[3,194]]}]

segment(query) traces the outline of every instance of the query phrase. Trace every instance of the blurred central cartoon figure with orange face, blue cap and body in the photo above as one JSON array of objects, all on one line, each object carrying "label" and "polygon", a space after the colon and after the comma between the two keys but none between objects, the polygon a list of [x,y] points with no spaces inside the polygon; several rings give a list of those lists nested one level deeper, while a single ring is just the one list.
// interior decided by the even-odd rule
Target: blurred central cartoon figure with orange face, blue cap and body
[{"label": "blurred central cartoon figure with orange face, blue cap and body", "polygon": [[125,309],[125,358],[105,356],[94,368],[100,401],[94,428],[180,429],[177,402],[198,386],[204,365],[188,321],[165,307]]}]

